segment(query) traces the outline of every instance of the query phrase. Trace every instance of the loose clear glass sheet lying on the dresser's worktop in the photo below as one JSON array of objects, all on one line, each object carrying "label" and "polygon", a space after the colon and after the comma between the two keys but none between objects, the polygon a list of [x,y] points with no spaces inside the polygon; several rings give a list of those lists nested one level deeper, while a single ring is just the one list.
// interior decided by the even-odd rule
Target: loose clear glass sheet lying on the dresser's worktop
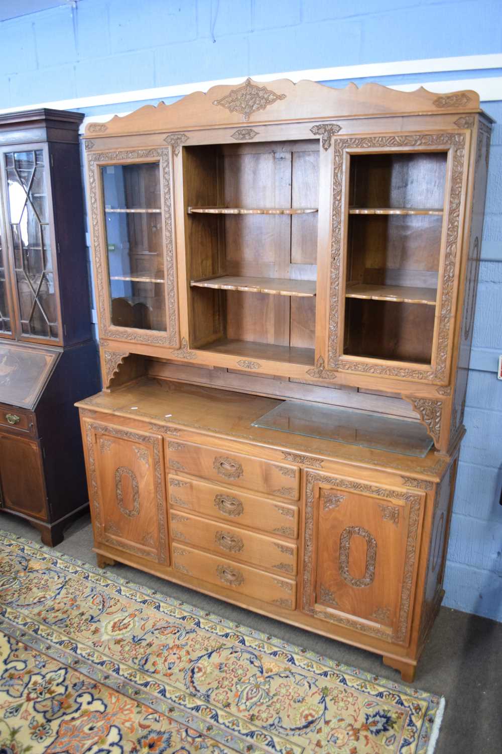
[{"label": "loose clear glass sheet lying on the dresser's worktop", "polygon": [[275,406],[252,426],[417,458],[424,458],[433,446],[418,421],[295,400]]}]

